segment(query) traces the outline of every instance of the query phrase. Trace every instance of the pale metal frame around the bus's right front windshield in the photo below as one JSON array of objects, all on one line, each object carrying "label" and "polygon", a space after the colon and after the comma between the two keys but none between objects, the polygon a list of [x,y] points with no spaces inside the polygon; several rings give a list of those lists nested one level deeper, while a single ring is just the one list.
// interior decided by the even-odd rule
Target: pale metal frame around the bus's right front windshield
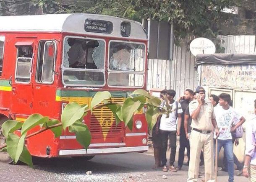
[{"label": "pale metal frame around the bus's right front windshield", "polygon": [[[110,43],[111,42],[120,42],[120,43],[132,43],[132,44],[143,44],[144,45],[144,63],[143,63],[143,71],[122,71],[122,70],[111,70],[110,69]],[[108,87],[117,87],[117,88],[143,88],[145,86],[145,69],[146,69],[146,44],[144,42],[134,42],[134,41],[120,41],[120,40],[110,40],[108,43],[108,55],[107,55],[107,86]],[[128,73],[128,74],[142,74],[143,76],[143,85],[142,86],[115,86],[109,84],[109,75],[110,73]]]}]

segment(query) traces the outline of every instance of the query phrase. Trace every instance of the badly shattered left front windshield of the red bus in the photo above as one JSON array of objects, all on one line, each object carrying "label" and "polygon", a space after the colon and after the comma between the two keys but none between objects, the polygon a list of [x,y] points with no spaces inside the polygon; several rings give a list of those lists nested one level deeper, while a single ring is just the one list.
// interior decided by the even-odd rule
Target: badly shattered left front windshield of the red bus
[{"label": "badly shattered left front windshield of the red bus", "polygon": [[104,85],[105,42],[66,37],[63,50],[64,85]]}]

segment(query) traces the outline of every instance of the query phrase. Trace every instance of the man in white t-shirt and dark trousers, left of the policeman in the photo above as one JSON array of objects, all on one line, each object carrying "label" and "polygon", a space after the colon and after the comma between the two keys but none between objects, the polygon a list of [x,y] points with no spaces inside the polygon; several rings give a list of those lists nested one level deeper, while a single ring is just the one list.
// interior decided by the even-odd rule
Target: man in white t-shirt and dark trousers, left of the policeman
[{"label": "man in white t-shirt and dark trousers, left of the policeman", "polygon": [[[167,159],[166,159],[166,151],[167,151],[167,141],[168,138],[170,139],[170,148],[171,148],[171,154],[170,154],[170,166],[169,170],[172,172],[177,172],[177,169],[174,167],[174,161],[175,161],[175,154],[176,154],[176,141],[177,136],[180,135],[180,124],[181,124],[181,113],[182,108],[180,103],[175,101],[173,98],[175,97],[176,92],[174,90],[167,90],[166,96],[168,100],[170,101],[170,107],[172,112],[169,114],[169,117],[167,115],[163,114],[160,120],[160,126],[159,126],[159,133],[161,136],[162,141],[162,165],[164,166],[162,171],[167,172],[168,168],[166,165]],[[165,103],[166,104],[166,103]],[[165,107],[165,106],[163,106]],[[177,120],[178,118],[178,127],[177,127]]]}]

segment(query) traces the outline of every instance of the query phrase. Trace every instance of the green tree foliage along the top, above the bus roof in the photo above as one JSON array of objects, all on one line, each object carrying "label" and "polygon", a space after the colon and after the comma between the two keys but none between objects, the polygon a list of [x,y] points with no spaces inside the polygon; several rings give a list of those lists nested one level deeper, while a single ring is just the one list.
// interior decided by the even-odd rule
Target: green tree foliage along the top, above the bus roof
[{"label": "green tree foliage along the top, above the bus roof", "polygon": [[14,8],[23,8],[26,10],[20,14],[35,14],[36,9],[41,8],[43,13],[94,13],[135,21],[151,18],[172,22],[178,40],[189,36],[215,37],[220,24],[231,21],[230,15],[221,10],[242,6],[239,2],[241,0],[24,0],[21,3],[9,0],[2,1],[1,12],[12,15]]}]

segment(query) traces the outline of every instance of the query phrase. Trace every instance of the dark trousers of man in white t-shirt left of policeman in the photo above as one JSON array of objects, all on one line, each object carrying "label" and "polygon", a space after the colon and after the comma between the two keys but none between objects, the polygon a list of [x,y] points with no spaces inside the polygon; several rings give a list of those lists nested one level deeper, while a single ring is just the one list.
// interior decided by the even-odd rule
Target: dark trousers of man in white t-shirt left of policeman
[{"label": "dark trousers of man in white t-shirt left of policeman", "polygon": [[168,138],[170,139],[170,148],[171,148],[171,154],[170,154],[170,166],[174,165],[175,161],[175,154],[176,154],[176,131],[165,131],[160,130],[160,136],[162,141],[162,151],[161,151],[161,161],[162,165],[166,166],[166,151],[167,151],[167,142]]}]

